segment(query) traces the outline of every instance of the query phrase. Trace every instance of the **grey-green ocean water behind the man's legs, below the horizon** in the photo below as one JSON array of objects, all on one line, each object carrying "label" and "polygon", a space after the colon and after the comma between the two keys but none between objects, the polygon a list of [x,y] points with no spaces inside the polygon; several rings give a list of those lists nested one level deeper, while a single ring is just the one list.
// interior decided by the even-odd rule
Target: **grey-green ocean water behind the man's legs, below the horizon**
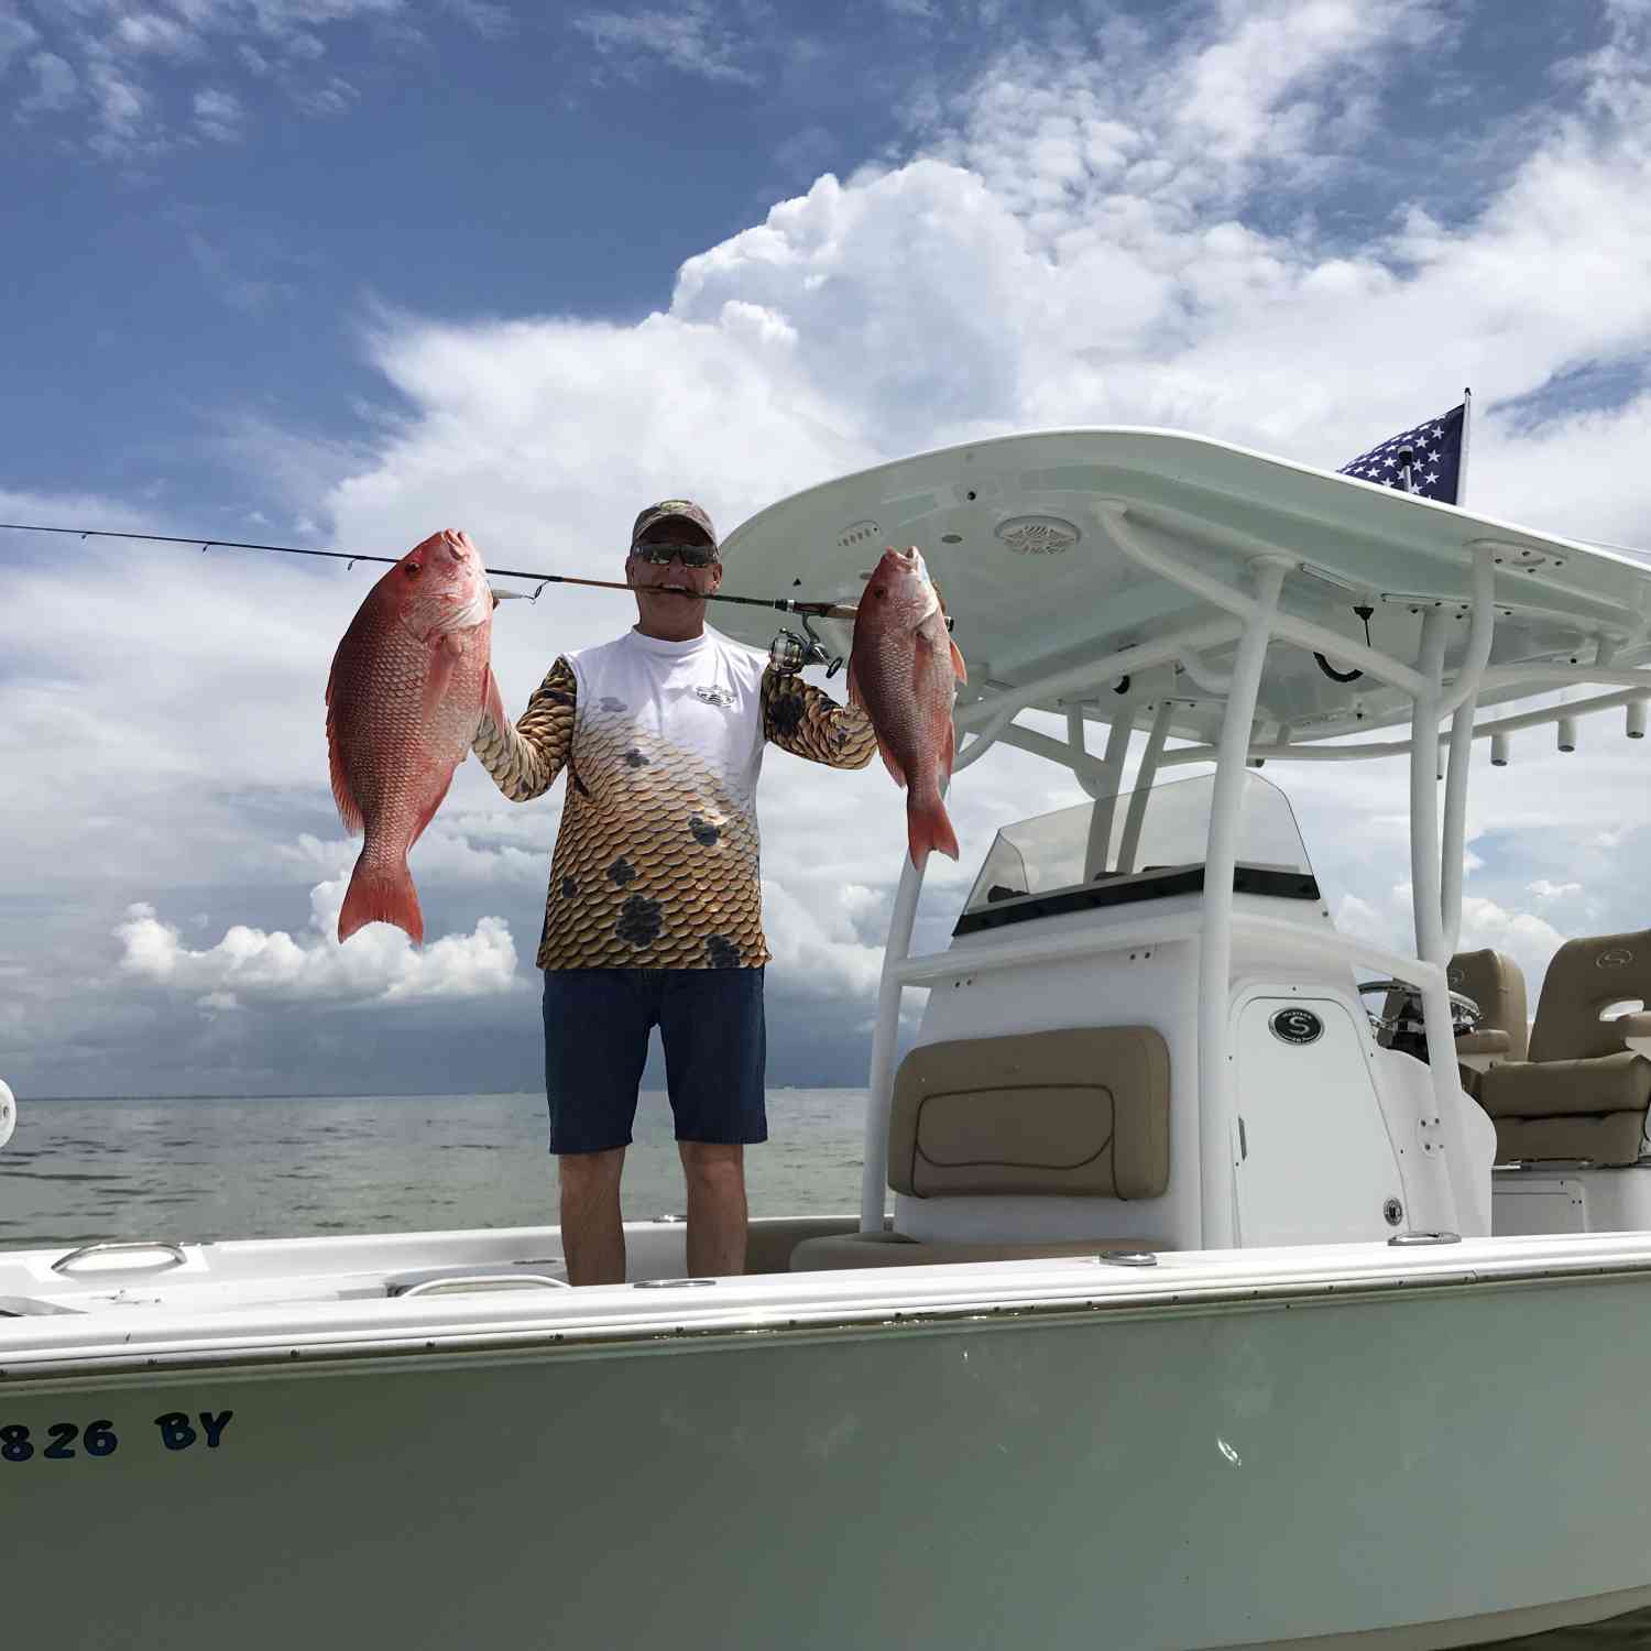
[{"label": "grey-green ocean water behind the man's legs, below the horizon", "polygon": [[[860,1205],[863,1090],[771,1090],[746,1149],[753,1215]],[[92,1238],[297,1238],[556,1220],[545,1096],[329,1095],[18,1101],[0,1248]],[[626,1156],[631,1220],[680,1213],[662,1091]]]}]

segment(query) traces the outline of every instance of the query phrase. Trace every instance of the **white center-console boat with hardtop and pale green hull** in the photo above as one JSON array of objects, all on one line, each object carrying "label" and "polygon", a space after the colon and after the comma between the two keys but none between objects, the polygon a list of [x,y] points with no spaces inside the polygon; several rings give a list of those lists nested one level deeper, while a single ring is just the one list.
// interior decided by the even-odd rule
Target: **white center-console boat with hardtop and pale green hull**
[{"label": "white center-console boat with hardtop and pale green hull", "polygon": [[[958,786],[1001,741],[1090,801],[1005,822],[931,956],[906,862],[862,1209],[725,1280],[636,1223],[581,1289],[553,1228],[0,1251],[17,1643],[1420,1648],[1651,1605],[1651,931],[1570,943],[1529,1052],[1506,959],[1455,956],[1473,741],[1641,731],[1651,566],[1128,429],[728,551],[852,601],[885,542],[969,659]],[[1415,956],[1337,933],[1253,766],[1405,750]]]}]

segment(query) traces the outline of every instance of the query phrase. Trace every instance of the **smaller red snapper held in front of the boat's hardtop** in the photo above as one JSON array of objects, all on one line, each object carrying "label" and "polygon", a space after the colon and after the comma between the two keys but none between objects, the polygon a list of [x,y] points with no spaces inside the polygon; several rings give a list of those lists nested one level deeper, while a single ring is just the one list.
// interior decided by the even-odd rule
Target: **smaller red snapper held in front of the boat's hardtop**
[{"label": "smaller red snapper held in front of the boat's hardtop", "polygon": [[941,783],[951,779],[956,750],[953,700],[967,680],[923,553],[915,545],[885,550],[854,617],[849,703],[870,715],[883,766],[906,788],[906,842],[918,870],[933,849],[958,859]]}]

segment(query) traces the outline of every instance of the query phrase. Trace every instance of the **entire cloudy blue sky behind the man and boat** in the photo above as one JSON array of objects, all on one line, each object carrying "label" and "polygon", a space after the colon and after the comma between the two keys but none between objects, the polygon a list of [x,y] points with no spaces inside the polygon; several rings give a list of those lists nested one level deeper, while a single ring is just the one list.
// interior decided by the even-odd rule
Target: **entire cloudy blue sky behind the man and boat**
[{"label": "entire cloudy blue sky behind the man and boat", "polygon": [[[457,525],[588,571],[664,494],[728,528],[1070,423],[1334,466],[1473,383],[1474,504],[1646,543],[1648,26],[1643,0],[0,0],[0,518],[390,553]],[[353,849],[319,700],[360,573],[0,556],[0,1076],[537,1081],[555,802],[467,764],[414,857],[423,958],[325,941]],[[626,619],[502,621],[507,703]],[[1479,788],[1466,938],[1534,1002],[1563,934],[1651,921],[1651,882],[1633,748],[1563,781],[1526,753]],[[1339,918],[1400,939],[1400,779],[1281,779]],[[992,826],[1067,801],[1015,753],[971,771],[928,943]],[[771,1075],[860,1081],[898,794],[776,758],[763,830]]]}]

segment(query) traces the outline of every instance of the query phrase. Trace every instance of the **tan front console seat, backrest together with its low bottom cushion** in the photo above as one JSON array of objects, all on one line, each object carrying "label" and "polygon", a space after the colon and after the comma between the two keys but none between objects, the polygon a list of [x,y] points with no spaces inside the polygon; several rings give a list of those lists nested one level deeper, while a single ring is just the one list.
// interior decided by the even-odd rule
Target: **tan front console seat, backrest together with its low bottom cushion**
[{"label": "tan front console seat, backrest together with its low bottom cushion", "polygon": [[[971,1199],[997,1232],[807,1238],[792,1271],[1009,1261],[1166,1243],[1096,1232],[1037,1237],[1035,1199],[1156,1199],[1169,1185],[1169,1045],[1151,1027],[1067,1027],[915,1048],[895,1075],[888,1185],[910,1199]],[[1017,1225],[1020,1230],[1017,1232]]]}]

